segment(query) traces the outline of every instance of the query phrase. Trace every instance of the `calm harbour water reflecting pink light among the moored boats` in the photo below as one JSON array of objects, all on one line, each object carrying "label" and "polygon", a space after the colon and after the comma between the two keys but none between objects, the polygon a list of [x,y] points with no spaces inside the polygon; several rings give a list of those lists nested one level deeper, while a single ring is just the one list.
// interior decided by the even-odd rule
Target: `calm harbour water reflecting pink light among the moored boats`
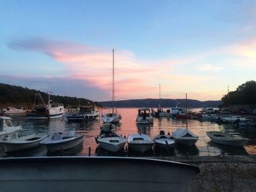
[{"label": "calm harbour water reflecting pink light among the moored boats", "polygon": [[[104,111],[103,111],[104,112]],[[165,130],[172,133],[176,128],[186,128],[186,120],[176,120],[172,118],[154,118],[153,126],[140,126],[135,123],[137,116],[137,109],[135,108],[123,108],[118,109],[118,112],[122,115],[120,125],[117,126],[117,134],[128,136],[134,133],[147,134],[151,138],[154,138],[159,134],[160,130]],[[37,147],[33,150],[23,151],[20,153],[12,153],[9,156],[33,156],[33,155],[88,155],[89,147],[91,147],[91,155],[126,155],[126,156],[140,156],[138,153],[130,153],[124,150],[118,154],[111,154],[105,150],[97,147],[95,137],[99,134],[99,126],[102,125],[102,120],[89,121],[83,123],[68,123],[65,118],[53,119],[53,120],[26,120],[25,117],[12,116],[12,121],[22,121],[23,134],[33,133],[46,133],[51,134],[56,131],[69,131],[70,128],[75,128],[76,133],[83,134],[83,146],[78,146],[72,150],[61,154],[48,154],[45,147]],[[188,128],[199,136],[195,147],[176,147],[172,151],[154,151],[143,155],[219,155],[220,153],[226,154],[256,154],[256,130],[255,128],[233,128],[228,125],[218,125],[217,123],[211,123],[207,121],[188,120]],[[206,135],[206,131],[227,131],[232,134],[241,135],[249,139],[244,148],[227,147],[214,144]],[[127,145],[125,145],[127,147]]]}]

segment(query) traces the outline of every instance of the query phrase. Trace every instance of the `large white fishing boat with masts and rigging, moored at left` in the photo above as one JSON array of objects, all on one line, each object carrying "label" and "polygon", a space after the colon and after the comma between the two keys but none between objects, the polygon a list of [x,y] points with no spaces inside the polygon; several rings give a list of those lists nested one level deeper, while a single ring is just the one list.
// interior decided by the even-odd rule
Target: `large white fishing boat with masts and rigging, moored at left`
[{"label": "large white fishing boat with masts and rigging, moored at left", "polygon": [[42,96],[39,93],[36,93],[35,98],[37,97],[39,97],[39,99],[42,101],[42,105],[35,104],[34,111],[27,114],[27,119],[39,120],[63,117],[65,112],[63,104],[50,104],[50,94],[48,94],[48,105],[45,104],[45,102],[42,99]]}]

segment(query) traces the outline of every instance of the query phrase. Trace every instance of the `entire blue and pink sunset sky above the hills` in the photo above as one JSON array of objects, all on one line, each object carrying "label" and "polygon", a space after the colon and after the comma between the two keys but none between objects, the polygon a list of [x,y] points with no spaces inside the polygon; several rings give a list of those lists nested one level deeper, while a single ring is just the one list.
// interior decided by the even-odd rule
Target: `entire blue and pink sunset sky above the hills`
[{"label": "entire blue and pink sunset sky above the hills", "polygon": [[113,49],[116,100],[219,100],[256,80],[256,1],[0,0],[2,83],[109,101]]}]

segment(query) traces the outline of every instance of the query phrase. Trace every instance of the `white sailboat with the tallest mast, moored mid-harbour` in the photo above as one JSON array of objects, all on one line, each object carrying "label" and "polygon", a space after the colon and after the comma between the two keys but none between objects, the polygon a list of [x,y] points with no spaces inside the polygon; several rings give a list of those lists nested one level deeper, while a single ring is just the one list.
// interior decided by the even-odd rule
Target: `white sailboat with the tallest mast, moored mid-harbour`
[{"label": "white sailboat with the tallest mast, moored mid-harbour", "polygon": [[103,123],[119,123],[121,115],[114,110],[114,82],[115,82],[115,50],[113,52],[113,69],[112,69],[112,112],[102,116]]}]

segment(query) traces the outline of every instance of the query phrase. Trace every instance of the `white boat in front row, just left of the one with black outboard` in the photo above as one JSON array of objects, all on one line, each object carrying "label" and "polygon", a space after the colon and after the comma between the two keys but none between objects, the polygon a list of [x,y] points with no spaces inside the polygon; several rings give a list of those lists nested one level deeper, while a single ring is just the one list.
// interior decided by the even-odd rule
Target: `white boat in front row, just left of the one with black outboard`
[{"label": "white boat in front row, just left of the one with black outboard", "polygon": [[127,143],[129,150],[135,150],[140,153],[152,150],[154,145],[154,141],[146,134],[130,134]]}]

